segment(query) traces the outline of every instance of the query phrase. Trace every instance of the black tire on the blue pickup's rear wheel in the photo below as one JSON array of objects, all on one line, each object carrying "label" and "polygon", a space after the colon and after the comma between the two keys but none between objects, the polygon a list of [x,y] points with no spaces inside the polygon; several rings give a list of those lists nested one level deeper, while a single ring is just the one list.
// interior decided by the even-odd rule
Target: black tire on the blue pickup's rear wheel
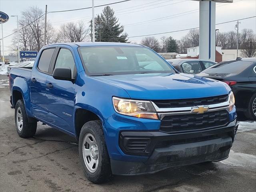
[{"label": "black tire on the blue pickup's rear wheel", "polygon": [[[18,112],[20,112],[22,115],[22,126],[18,125]],[[15,125],[19,136],[22,138],[32,137],[36,134],[37,122],[28,122],[28,116],[26,114],[23,100],[18,100],[15,106]]]}]

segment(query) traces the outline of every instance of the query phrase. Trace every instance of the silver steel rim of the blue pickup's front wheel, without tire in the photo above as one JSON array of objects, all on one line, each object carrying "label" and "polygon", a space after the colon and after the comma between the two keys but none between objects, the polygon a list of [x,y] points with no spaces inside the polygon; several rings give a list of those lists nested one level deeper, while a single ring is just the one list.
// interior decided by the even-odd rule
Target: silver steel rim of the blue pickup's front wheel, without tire
[{"label": "silver steel rim of the blue pickup's front wheel, without tire", "polygon": [[83,140],[83,157],[86,168],[94,173],[99,164],[98,145],[94,136],[90,133],[86,134]]}]

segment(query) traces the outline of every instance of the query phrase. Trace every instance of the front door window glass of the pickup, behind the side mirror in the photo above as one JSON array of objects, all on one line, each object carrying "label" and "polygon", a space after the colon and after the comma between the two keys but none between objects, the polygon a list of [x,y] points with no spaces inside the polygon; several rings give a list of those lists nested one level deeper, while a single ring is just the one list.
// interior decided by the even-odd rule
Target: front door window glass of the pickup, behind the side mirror
[{"label": "front door window glass of the pickup, behind the side mirror", "polygon": [[76,77],[76,64],[70,50],[60,48],[54,68],[58,67],[69,67],[71,69],[72,78]]}]

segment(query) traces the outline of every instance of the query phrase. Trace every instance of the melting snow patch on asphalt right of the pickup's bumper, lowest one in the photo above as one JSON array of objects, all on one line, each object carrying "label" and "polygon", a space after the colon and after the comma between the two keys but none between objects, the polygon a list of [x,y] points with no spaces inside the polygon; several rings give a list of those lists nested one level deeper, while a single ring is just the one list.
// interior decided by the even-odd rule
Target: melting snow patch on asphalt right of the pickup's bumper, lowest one
[{"label": "melting snow patch on asphalt right of the pickup's bumper, lowest one", "polygon": [[222,160],[221,163],[228,166],[234,167],[250,167],[256,168],[256,156],[245,154],[245,153],[236,153],[233,150],[230,150],[229,157],[225,160]]}]

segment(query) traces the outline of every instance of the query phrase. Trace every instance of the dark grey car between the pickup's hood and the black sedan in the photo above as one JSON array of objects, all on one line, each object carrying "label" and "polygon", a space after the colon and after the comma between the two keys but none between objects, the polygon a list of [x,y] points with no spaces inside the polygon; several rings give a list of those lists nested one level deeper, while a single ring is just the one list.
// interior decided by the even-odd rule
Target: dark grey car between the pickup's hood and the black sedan
[{"label": "dark grey car between the pickup's hood and the black sedan", "polygon": [[167,59],[167,62],[172,64],[179,72],[190,74],[200,73],[202,70],[216,64],[216,62],[208,60],[182,58]]}]

